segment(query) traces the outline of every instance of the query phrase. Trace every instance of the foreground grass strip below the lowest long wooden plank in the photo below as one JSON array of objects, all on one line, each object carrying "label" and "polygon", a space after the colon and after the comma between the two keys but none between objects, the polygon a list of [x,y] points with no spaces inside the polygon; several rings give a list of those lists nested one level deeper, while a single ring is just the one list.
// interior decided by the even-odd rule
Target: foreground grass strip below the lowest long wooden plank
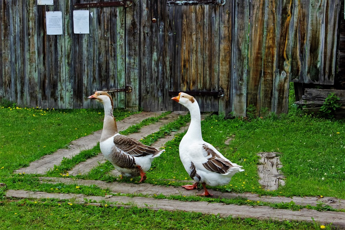
[{"label": "foreground grass strip below the lowest long wooden plank", "polygon": [[[3,202],[2,229],[268,229],[317,230],[317,223],[221,218],[218,214],[84,206],[51,199]],[[329,226],[326,229],[330,229]]]}]

